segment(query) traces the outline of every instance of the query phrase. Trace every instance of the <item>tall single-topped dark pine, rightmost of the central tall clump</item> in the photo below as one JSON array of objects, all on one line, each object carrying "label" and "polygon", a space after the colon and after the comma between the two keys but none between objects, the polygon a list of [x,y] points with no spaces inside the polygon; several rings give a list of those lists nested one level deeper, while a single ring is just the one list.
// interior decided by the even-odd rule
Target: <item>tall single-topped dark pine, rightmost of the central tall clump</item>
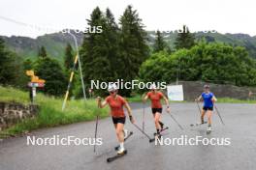
[{"label": "tall single-topped dark pine, rightmost of the central tall clump", "polygon": [[[125,81],[133,80],[139,72],[140,66],[148,56],[146,32],[142,19],[132,6],[128,6],[120,17],[120,55],[122,61],[122,77]],[[130,91],[125,95],[129,96]]]}]

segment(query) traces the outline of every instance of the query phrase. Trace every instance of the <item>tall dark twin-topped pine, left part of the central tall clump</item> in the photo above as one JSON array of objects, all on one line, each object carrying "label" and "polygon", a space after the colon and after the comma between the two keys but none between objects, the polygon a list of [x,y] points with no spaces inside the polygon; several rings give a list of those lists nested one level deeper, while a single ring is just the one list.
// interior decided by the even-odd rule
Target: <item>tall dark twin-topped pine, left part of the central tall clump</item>
[{"label": "tall dark twin-topped pine, left part of the central tall clump", "polygon": [[[83,43],[80,49],[80,57],[84,71],[84,81],[87,88],[91,80],[112,81],[115,71],[112,70],[112,58],[114,54],[114,21],[110,11],[109,18],[97,7],[93,10],[90,19],[87,19],[88,25],[93,28],[102,26],[103,32],[100,34],[85,33]],[[113,42],[112,42],[113,41]],[[103,93],[103,91],[98,91]]]}]

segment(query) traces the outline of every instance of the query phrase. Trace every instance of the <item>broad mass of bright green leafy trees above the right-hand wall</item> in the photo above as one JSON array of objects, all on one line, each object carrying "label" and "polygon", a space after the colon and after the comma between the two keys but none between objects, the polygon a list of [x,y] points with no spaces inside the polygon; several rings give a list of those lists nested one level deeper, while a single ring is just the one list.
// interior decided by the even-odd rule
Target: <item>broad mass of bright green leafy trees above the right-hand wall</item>
[{"label": "broad mass of bright green leafy trees above the right-hand wall", "polygon": [[256,61],[244,47],[217,42],[199,42],[190,49],[169,55],[153,54],[140,69],[144,81],[203,80],[218,84],[255,86]]}]

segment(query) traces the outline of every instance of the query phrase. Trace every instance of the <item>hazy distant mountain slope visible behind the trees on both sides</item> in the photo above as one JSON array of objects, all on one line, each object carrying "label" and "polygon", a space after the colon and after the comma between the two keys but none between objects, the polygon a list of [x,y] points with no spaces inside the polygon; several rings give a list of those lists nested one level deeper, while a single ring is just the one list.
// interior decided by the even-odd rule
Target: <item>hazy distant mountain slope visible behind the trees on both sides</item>
[{"label": "hazy distant mountain slope visible behind the trees on both sides", "polygon": [[[79,45],[82,42],[83,34],[73,32],[77,37]],[[147,31],[148,44],[152,45],[155,39],[154,31]],[[176,33],[163,33],[164,40],[174,49],[174,42],[176,41]],[[246,34],[220,34],[220,33],[203,33],[195,34],[196,39],[205,38],[208,42],[225,42],[232,45],[244,46],[249,55],[256,58],[256,36],[250,37]],[[7,46],[15,51],[22,58],[35,59],[38,54],[38,49],[44,45],[48,51],[48,55],[63,62],[65,47],[68,42],[74,47],[74,40],[69,34],[53,33],[40,36],[37,39],[26,37],[1,37],[6,42]]]}]

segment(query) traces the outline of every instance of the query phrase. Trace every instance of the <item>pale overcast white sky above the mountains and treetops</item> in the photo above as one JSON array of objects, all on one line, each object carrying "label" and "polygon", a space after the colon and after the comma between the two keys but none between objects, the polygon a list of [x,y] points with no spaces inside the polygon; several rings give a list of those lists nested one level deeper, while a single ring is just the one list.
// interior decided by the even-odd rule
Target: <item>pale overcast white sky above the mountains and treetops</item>
[{"label": "pale overcast white sky above the mountains and treetops", "polygon": [[[84,29],[99,6],[109,7],[116,21],[127,5],[138,10],[146,30],[217,30],[256,36],[255,0],[0,0],[0,35],[35,38],[63,28]],[[14,20],[8,20],[14,19]],[[21,22],[19,24],[14,22]],[[30,24],[30,26],[22,25]],[[40,26],[53,30],[39,29]]]}]

